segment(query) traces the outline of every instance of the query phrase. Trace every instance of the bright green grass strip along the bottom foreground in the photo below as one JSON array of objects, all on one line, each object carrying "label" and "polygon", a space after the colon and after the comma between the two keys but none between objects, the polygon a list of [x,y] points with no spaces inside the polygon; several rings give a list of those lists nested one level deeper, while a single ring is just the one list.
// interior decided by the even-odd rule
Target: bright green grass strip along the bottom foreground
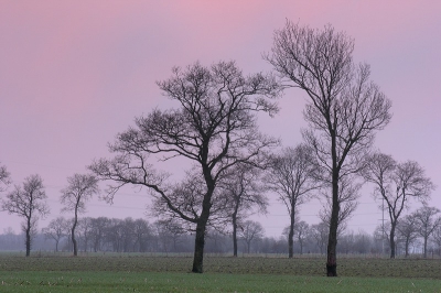
[{"label": "bright green grass strip along the bottom foreground", "polygon": [[9,272],[0,292],[440,292],[440,280],[154,272]]}]

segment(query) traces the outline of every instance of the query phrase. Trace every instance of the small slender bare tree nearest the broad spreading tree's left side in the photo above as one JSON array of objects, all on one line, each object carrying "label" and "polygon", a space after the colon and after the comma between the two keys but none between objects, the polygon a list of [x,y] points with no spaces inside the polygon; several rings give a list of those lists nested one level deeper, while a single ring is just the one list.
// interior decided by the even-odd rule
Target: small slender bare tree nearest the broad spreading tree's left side
[{"label": "small slender bare tree nearest the broad spreading tree's left side", "polygon": [[94,194],[99,192],[98,180],[90,174],[74,174],[67,178],[67,187],[61,191],[61,203],[64,205],[63,211],[74,211],[74,219],[71,229],[74,256],[78,254],[75,229],[78,224],[78,214],[86,213],[86,203]]}]

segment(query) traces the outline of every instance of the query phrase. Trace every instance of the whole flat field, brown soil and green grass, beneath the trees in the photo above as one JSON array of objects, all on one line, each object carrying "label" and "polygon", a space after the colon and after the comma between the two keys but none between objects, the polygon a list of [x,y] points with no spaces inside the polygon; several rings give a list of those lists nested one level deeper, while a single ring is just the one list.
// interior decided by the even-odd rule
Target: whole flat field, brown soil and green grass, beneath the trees
[{"label": "whole flat field, brown soil and green grass, beneath the trees", "polygon": [[340,258],[338,278],[325,259],[142,254],[0,253],[0,292],[441,292],[441,260]]}]

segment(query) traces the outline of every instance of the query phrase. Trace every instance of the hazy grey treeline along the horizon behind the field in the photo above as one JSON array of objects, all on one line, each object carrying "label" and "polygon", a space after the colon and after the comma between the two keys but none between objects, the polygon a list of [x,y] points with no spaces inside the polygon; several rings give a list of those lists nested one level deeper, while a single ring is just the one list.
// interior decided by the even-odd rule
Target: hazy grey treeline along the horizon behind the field
[{"label": "hazy grey treeline along the horizon behind the field", "polygon": [[[409,215],[409,217],[415,215]],[[72,252],[73,243],[69,235],[72,219],[58,217],[47,227],[33,234],[32,250],[35,252]],[[240,254],[288,254],[288,227],[279,237],[268,237],[258,221],[247,220],[239,236],[238,251]],[[421,256],[423,253],[423,237],[415,226],[409,234],[401,224],[396,241],[397,256]],[[409,228],[409,227],[407,227]],[[295,254],[324,254],[327,245],[327,226],[309,225],[301,220],[295,227]],[[141,253],[191,253],[194,249],[194,236],[175,221],[127,217],[83,217],[78,219],[76,230],[79,252],[141,252]],[[0,235],[0,251],[23,251],[24,235],[15,234],[8,228]],[[429,239],[428,254],[441,257],[441,227],[437,227]],[[386,256],[388,240],[378,226],[373,234],[363,230],[354,232],[345,230],[338,235],[338,253]],[[230,232],[211,229],[206,235],[207,253],[233,253]]]}]

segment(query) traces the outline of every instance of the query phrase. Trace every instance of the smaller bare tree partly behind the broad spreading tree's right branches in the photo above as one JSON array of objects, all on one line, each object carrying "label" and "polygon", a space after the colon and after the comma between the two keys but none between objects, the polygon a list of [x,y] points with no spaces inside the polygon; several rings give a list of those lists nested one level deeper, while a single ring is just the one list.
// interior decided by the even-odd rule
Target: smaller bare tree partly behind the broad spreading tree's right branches
[{"label": "smaller bare tree partly behind the broad spreading tree's right branches", "polygon": [[247,164],[238,164],[228,172],[220,182],[222,196],[227,198],[229,208],[226,210],[233,224],[233,256],[237,257],[237,228],[250,216],[254,207],[258,213],[266,214],[268,199],[265,187],[260,183],[260,170]]}]

